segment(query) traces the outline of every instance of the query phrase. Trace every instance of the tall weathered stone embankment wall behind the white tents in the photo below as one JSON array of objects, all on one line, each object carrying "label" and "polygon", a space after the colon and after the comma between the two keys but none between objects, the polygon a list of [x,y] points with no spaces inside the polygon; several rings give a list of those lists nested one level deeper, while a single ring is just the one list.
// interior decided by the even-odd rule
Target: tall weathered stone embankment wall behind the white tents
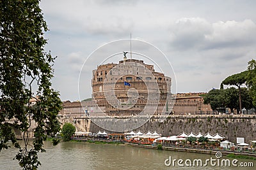
[{"label": "tall weathered stone embankment wall behind the white tents", "polygon": [[[172,136],[181,132],[198,134],[219,134],[229,141],[236,143],[236,138],[244,138],[246,143],[256,140],[256,116],[255,115],[191,115],[170,116],[164,122],[159,122],[159,117],[152,117],[148,122],[134,129],[141,132],[157,131],[163,136]],[[104,131],[91,122],[90,132]]]}]

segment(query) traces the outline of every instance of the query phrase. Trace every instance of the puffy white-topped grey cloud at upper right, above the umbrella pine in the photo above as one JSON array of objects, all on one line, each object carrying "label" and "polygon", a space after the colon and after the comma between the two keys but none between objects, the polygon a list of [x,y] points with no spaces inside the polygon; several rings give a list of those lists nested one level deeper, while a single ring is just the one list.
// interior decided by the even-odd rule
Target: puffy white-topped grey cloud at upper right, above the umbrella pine
[{"label": "puffy white-topped grey cloud at upper right, above the umbrella pine", "polygon": [[211,50],[253,45],[256,24],[252,20],[210,23],[203,18],[181,18],[170,29],[170,43],[179,49]]}]

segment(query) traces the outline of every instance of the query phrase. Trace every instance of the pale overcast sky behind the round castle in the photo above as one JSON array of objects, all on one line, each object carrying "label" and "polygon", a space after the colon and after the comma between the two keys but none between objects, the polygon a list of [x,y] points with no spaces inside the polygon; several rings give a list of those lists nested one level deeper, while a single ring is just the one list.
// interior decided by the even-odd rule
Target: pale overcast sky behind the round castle
[{"label": "pale overcast sky behind the round castle", "polygon": [[[227,76],[240,73],[256,56],[256,1],[51,1],[40,3],[49,31],[46,50],[58,56],[52,86],[63,101],[91,96],[92,69],[110,53],[94,50],[118,39],[129,39],[132,52],[150,56],[176,92],[208,92]],[[156,46],[170,64],[160,60]],[[133,43],[134,42],[134,43]],[[146,44],[147,44],[146,43]],[[129,51],[117,43],[115,52]],[[149,49],[150,48],[150,49]],[[106,49],[105,49],[106,50]],[[150,52],[149,52],[150,51]],[[100,57],[98,57],[100,56]],[[122,59],[122,54],[120,54]],[[90,57],[90,61],[86,59]],[[136,59],[143,59],[134,55]],[[118,59],[115,59],[118,62]],[[144,59],[143,59],[144,60]],[[85,63],[78,83],[79,73]],[[170,67],[172,66],[172,69]]]}]

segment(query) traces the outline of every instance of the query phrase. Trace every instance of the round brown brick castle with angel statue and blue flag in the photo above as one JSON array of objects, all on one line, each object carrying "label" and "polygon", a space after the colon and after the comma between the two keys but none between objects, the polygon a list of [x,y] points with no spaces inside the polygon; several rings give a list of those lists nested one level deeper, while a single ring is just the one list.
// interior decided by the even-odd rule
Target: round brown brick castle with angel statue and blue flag
[{"label": "round brown brick castle with angel statue and blue flag", "polygon": [[124,60],[118,64],[103,64],[93,70],[92,96],[109,116],[137,115],[142,111],[147,115],[150,113],[146,113],[146,106],[156,108],[156,115],[168,111],[171,82],[172,78],[156,72],[154,65],[127,59],[124,53]]}]

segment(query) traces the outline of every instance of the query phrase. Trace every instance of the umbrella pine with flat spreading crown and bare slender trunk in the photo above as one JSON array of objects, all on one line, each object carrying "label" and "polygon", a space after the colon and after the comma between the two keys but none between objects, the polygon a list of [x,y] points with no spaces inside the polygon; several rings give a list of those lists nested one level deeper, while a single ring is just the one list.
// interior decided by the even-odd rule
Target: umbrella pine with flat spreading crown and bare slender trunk
[{"label": "umbrella pine with flat spreading crown and bare slender trunk", "polygon": [[246,83],[248,71],[243,71],[241,73],[233,74],[225,78],[222,81],[223,85],[235,85],[239,90],[239,113],[242,113],[242,101],[241,101],[241,85]]}]

